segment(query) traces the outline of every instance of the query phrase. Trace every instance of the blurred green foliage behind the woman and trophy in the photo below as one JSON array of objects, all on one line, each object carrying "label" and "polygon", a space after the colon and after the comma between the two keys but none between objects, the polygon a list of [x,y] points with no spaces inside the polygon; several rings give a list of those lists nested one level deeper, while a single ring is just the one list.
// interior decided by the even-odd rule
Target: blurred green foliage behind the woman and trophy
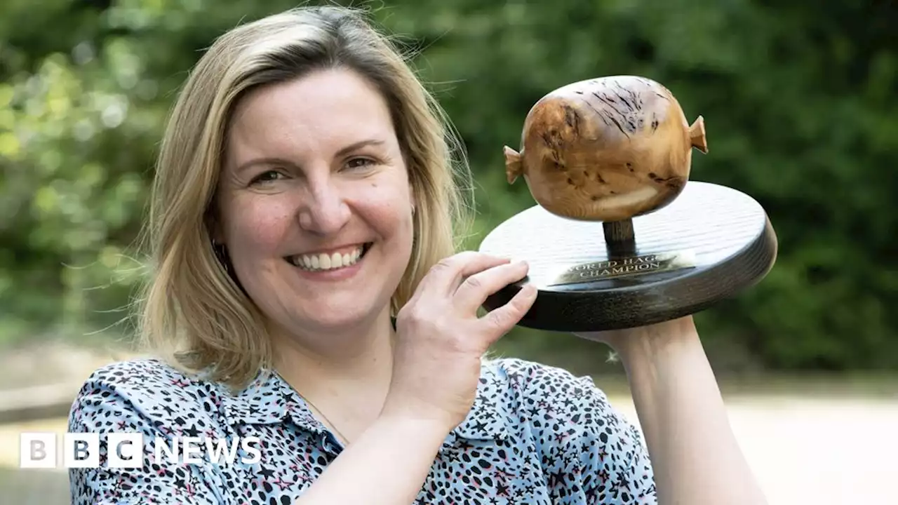
[{"label": "blurred green foliage behind the woman and trophy", "polygon": [[[752,195],[779,235],[761,285],[698,316],[719,368],[898,368],[898,9],[854,0],[392,0],[374,18],[416,65],[475,171],[483,233],[533,205],[504,180],[527,111],[633,74],[703,115],[692,180]],[[0,340],[127,332],[163,120],[202,49],[284,0],[0,4]],[[893,308],[889,308],[893,307]],[[117,324],[119,323],[119,324]],[[603,350],[515,331],[502,350],[573,367]]]}]

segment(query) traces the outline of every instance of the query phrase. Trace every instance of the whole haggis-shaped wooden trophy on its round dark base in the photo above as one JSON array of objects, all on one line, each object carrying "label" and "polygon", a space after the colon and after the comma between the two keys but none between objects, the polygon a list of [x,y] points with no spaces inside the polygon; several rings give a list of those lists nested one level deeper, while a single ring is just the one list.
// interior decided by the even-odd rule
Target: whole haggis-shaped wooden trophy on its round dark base
[{"label": "whole haggis-shaped wooden trophy on its round dark base", "polygon": [[596,332],[691,315],[759,282],[777,237],[744,193],[688,182],[692,149],[708,153],[665,86],[616,75],[563,86],[533,105],[520,152],[506,146],[536,206],[489,233],[480,251],[525,260],[525,279],[489,297],[492,310],[538,289],[520,324]]}]

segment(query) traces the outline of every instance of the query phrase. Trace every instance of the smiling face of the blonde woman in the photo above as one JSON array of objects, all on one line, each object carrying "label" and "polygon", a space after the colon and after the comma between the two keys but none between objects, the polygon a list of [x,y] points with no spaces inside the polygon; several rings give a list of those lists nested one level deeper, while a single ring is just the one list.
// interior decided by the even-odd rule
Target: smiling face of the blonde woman
[{"label": "smiling face of the blonde woman", "polygon": [[248,94],[218,191],[218,237],[279,331],[352,329],[389,310],[413,201],[390,111],[364,78],[326,70]]}]

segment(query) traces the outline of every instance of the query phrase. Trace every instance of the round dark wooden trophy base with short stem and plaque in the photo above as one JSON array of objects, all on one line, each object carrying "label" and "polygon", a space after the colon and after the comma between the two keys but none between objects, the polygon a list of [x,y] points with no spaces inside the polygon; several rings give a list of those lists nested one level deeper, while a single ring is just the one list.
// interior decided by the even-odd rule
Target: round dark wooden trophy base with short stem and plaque
[{"label": "round dark wooden trophy base with short stem and plaque", "polygon": [[503,306],[533,283],[539,293],[522,326],[556,332],[631,328],[733,297],[763,279],[776,261],[777,237],[764,209],[724,186],[688,182],[672,203],[631,223],[628,240],[629,221],[578,221],[540,206],[511,217],[487,235],[480,251],[525,260],[530,271],[484,306]]}]

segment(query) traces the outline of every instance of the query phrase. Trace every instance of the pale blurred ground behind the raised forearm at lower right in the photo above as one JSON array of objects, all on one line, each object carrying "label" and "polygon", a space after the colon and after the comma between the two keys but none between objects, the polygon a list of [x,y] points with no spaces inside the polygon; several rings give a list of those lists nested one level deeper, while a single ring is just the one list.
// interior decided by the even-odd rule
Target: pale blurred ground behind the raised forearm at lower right
[{"label": "pale blurred ground behind the raised forearm at lower right", "polygon": [[[638,423],[629,397],[612,397]],[[770,505],[898,504],[898,398],[728,396]]]}]

